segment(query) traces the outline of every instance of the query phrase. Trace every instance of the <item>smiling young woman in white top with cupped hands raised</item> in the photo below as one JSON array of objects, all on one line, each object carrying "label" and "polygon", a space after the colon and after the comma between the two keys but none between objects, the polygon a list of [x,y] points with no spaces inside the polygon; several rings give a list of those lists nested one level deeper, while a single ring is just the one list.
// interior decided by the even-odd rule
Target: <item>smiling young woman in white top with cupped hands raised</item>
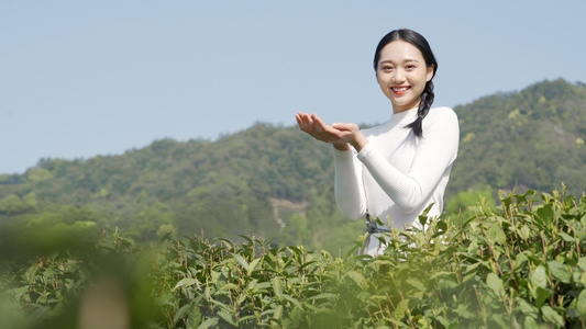
[{"label": "smiling young woman in white top with cupped hands raised", "polygon": [[419,225],[430,205],[430,217],[443,211],[443,194],[457,156],[460,128],[449,107],[431,107],[435,57],[419,33],[395,30],[379,42],[374,58],[376,79],[390,100],[390,120],[361,131],[356,124],[328,125],[316,114],[298,113],[301,131],[334,149],[335,198],[343,215],[367,219],[363,252],[384,250],[378,237],[389,227]]}]

